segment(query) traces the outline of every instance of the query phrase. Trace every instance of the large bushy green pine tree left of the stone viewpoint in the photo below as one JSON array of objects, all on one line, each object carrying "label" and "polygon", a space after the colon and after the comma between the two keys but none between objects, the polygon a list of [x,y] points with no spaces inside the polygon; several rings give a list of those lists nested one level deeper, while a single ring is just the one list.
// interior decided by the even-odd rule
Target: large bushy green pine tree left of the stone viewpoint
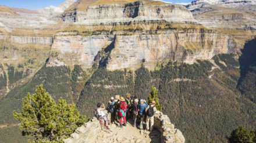
[{"label": "large bushy green pine tree left of the stone viewpoint", "polygon": [[20,121],[23,135],[33,137],[33,142],[63,142],[86,121],[74,104],[67,104],[62,98],[56,104],[42,85],[22,101],[22,113],[13,111],[13,116]]}]

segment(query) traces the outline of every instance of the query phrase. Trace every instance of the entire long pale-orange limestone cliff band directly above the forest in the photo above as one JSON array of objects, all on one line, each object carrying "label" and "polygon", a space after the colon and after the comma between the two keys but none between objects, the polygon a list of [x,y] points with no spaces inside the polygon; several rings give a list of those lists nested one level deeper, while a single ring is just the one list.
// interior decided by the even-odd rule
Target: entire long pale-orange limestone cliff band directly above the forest
[{"label": "entire long pale-orange limestone cliff band directly above the forest", "polygon": [[[137,31],[132,34],[119,31],[113,35],[55,36],[52,53],[58,54],[50,58],[49,65],[58,65],[59,60],[66,64],[81,63],[90,68],[98,58],[105,60],[109,70],[134,69],[141,63],[147,66],[147,63],[168,59],[192,64],[198,59],[211,59],[215,54],[235,52],[235,46],[230,36],[211,30]],[[102,52],[105,55],[99,56]]]}]

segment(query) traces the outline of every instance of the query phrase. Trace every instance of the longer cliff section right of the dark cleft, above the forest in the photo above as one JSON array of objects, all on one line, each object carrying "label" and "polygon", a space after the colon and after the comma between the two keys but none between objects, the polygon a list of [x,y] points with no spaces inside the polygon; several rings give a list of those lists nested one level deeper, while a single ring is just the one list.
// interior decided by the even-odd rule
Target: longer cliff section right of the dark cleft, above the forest
[{"label": "longer cliff section right of the dark cleft, above the forest", "polygon": [[230,53],[233,46],[228,35],[204,30],[168,30],[157,31],[155,34],[137,32],[134,35],[118,35],[107,68],[114,70],[136,67],[142,62],[166,59],[192,64],[197,59],[207,60],[218,53]]}]

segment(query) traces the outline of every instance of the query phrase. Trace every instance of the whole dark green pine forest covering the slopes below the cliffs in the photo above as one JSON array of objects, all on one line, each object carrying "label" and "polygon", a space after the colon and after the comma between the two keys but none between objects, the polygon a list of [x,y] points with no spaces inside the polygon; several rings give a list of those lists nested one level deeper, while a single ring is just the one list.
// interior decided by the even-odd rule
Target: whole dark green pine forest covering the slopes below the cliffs
[{"label": "whole dark green pine forest covering the slopes below the cliffs", "polygon": [[[116,94],[130,93],[147,99],[154,85],[163,113],[183,132],[186,142],[227,142],[226,137],[237,127],[249,130],[256,127],[256,52],[248,48],[242,50],[240,57],[220,54],[211,61],[198,60],[191,65],[169,61],[159,63],[152,71],[143,64],[136,71],[108,71],[104,66],[94,66],[90,72],[83,71],[80,65],[73,68],[45,65],[28,83],[15,87],[0,99],[3,115],[0,123],[18,123],[12,111],[20,112],[22,98],[28,92],[34,93],[35,85],[44,85],[56,101],[63,97],[69,103],[74,102],[79,111],[88,116],[92,116],[98,102],[106,103]],[[246,58],[248,53],[253,58]],[[14,73],[10,82],[22,75],[13,72],[15,70],[11,65],[8,68],[10,75]],[[5,74],[0,75],[1,81],[5,78]],[[0,86],[5,85],[1,82]],[[18,126],[2,128],[0,133],[5,136],[3,140],[15,136],[8,142],[26,141]]]}]

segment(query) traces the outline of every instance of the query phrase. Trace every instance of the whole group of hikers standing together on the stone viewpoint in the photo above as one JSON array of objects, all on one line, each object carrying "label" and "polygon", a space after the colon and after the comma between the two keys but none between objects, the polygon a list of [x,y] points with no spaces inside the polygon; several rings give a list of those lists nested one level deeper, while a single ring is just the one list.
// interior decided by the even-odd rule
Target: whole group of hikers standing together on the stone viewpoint
[{"label": "whole group of hikers standing together on the stone viewpoint", "polygon": [[[94,115],[103,119],[107,128],[107,124],[115,122],[120,123],[118,127],[122,128],[126,126],[128,119],[133,119],[134,127],[138,125],[140,129],[143,129],[143,123],[145,122],[146,129],[152,131],[154,113],[157,111],[155,104],[155,101],[151,101],[148,105],[147,101],[138,98],[138,96],[131,98],[131,95],[127,93],[126,98],[119,95],[116,95],[115,98],[111,97],[107,108],[103,103],[98,103]],[[103,112],[105,109],[108,111],[107,113]]]}]

